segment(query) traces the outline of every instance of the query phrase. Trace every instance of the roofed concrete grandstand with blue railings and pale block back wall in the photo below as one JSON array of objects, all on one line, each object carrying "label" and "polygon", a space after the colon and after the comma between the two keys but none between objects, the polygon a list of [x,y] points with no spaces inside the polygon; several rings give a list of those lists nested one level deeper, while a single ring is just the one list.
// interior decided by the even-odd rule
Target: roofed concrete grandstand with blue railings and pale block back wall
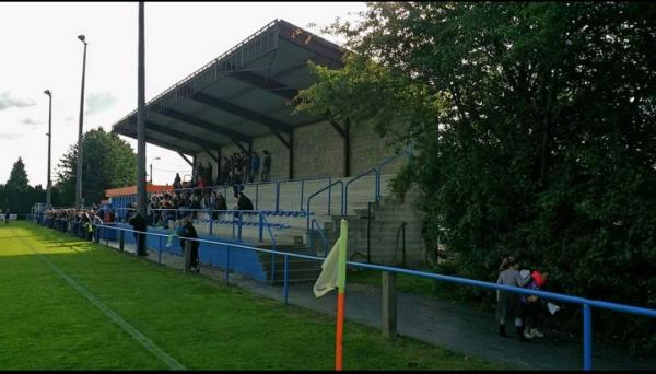
[{"label": "roofed concrete grandstand with blue railings and pale block back wall", "polygon": [[[258,212],[237,213],[236,218],[234,212],[222,212],[213,218],[209,211],[196,211],[199,234],[324,255],[337,238],[337,220],[347,215],[351,258],[395,265],[424,260],[415,210],[408,202],[396,201],[389,191],[394,173],[408,162],[411,149],[390,147],[390,139],[362,124],[337,124],[294,113],[290,103],[316,80],[308,61],[339,68],[343,54],[338,45],[276,20],[147,103],[147,142],[178,152],[194,171],[198,164],[211,165],[212,180],[221,173],[224,155],[261,154],[262,150],[271,154],[272,182],[244,185],[244,194]],[[136,118],[137,113],[130,113],[113,131],[136,139]],[[229,209],[236,206],[232,186],[206,190],[222,191]],[[125,224],[134,191],[108,191],[108,197],[118,220],[124,221],[117,224]],[[168,227],[187,213],[179,209],[167,213]],[[149,243],[150,247],[157,245]],[[221,266],[221,259],[210,252],[201,246],[201,260]],[[254,278],[274,278],[274,270],[267,269],[276,259],[244,261],[256,261],[263,269],[251,271]],[[244,268],[254,267],[246,264]],[[316,279],[317,265],[311,270],[296,280]]]}]

